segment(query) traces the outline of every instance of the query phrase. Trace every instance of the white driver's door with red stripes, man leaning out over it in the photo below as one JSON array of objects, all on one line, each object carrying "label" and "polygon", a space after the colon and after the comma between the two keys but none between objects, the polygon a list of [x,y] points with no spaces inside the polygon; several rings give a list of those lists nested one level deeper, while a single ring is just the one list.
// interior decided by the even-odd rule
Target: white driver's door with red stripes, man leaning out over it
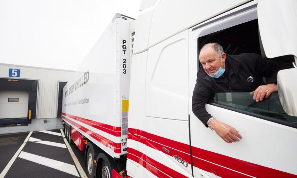
[{"label": "white driver's door with red stripes, man leaning out over it", "polygon": [[[230,55],[260,54],[256,2],[190,28],[189,106],[200,66],[199,50],[210,42],[221,44]],[[237,129],[242,139],[226,143],[190,109],[194,177],[297,177],[297,117],[283,111],[277,93],[259,103],[248,92],[215,93],[205,108]]]}]

